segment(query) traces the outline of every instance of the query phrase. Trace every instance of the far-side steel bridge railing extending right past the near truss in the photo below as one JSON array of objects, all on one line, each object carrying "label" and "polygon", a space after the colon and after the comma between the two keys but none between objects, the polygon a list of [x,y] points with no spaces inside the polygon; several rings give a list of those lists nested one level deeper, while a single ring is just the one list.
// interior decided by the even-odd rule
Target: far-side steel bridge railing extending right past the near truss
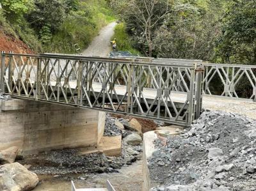
[{"label": "far-side steel bridge railing extending right past the near truss", "polygon": [[[202,86],[203,95],[225,96],[229,98],[245,98],[256,102],[256,66],[227,65],[203,63],[200,60],[189,59],[153,59],[153,61],[168,61],[168,63],[201,63],[204,68]],[[175,91],[184,91],[177,80]]]}]

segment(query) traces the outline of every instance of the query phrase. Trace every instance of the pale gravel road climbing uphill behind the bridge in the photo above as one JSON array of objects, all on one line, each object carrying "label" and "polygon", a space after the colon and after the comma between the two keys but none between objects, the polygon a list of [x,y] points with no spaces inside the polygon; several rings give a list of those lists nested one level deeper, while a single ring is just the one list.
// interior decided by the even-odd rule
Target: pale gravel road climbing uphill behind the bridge
[{"label": "pale gravel road climbing uphill behind the bridge", "polygon": [[96,36],[89,47],[82,52],[84,56],[108,56],[108,53],[111,51],[110,41],[111,37],[114,35],[114,29],[116,22],[111,22],[108,26],[103,27],[100,30],[98,36]]}]

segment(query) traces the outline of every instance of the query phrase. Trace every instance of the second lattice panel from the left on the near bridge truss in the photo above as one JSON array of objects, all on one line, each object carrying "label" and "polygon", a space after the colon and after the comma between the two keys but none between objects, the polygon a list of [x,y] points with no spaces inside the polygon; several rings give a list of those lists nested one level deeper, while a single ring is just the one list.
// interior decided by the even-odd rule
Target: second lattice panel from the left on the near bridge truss
[{"label": "second lattice panel from the left on the near bridge truss", "polygon": [[78,104],[81,88],[79,68],[79,60],[41,58],[38,68],[38,98]]}]

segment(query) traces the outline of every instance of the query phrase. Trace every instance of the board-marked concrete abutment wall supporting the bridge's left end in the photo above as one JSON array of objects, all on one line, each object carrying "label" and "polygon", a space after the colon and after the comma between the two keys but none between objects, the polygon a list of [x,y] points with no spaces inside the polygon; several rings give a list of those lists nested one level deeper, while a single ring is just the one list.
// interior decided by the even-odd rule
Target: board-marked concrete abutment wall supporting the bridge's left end
[{"label": "board-marked concrete abutment wall supporting the bridge's left end", "polygon": [[18,146],[22,154],[97,145],[104,112],[31,100],[1,102],[0,149]]}]

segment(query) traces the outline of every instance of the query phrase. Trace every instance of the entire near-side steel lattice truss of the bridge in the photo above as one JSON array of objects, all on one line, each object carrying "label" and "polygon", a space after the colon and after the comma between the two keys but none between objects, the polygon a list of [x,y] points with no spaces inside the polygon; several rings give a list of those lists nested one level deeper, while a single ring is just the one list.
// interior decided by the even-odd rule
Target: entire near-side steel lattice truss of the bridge
[{"label": "entire near-side steel lattice truss of the bridge", "polygon": [[[195,65],[134,59],[2,54],[1,88],[18,98],[65,103],[186,125],[195,109]],[[6,63],[6,65],[5,65]],[[2,72],[3,71],[3,72]],[[175,98],[174,91],[184,91]]]}]

